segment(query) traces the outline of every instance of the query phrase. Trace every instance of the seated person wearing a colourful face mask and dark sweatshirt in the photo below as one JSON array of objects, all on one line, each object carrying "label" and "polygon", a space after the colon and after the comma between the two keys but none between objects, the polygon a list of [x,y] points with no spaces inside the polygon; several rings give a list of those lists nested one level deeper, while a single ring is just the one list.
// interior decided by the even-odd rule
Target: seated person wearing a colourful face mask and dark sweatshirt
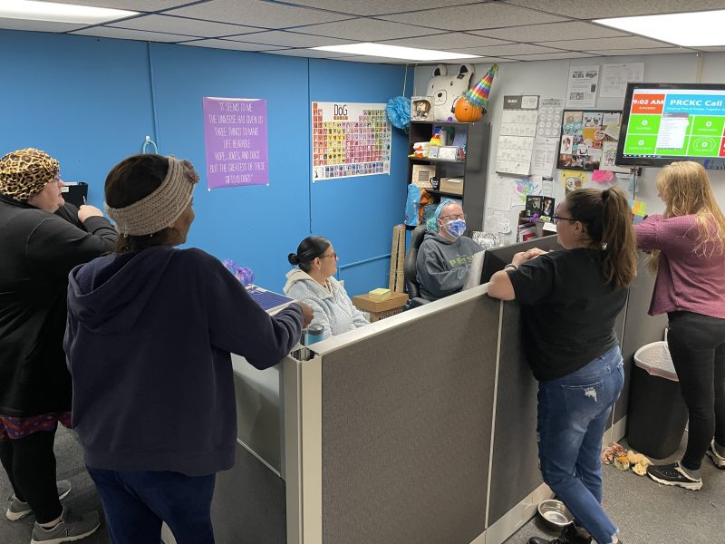
[{"label": "seated person wearing a colourful face mask and dark sweatshirt", "polygon": [[466,231],[466,216],[458,202],[445,199],[440,202],[428,220],[416,268],[420,296],[438,300],[458,293],[466,283],[473,254],[483,251],[476,242],[462,236]]}]

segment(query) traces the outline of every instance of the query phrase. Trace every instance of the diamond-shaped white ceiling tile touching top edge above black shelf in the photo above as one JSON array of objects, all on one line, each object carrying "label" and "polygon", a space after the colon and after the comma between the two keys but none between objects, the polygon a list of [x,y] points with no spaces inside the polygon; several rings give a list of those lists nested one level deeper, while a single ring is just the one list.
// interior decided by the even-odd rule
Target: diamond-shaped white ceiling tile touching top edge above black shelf
[{"label": "diamond-shaped white ceiling tile touching top edge above black shelf", "polygon": [[502,26],[535,23],[556,23],[565,17],[546,15],[538,11],[504,5],[498,2],[460,5],[419,11],[401,15],[382,15],[382,19],[399,23],[420,24],[447,30],[480,30]]}]

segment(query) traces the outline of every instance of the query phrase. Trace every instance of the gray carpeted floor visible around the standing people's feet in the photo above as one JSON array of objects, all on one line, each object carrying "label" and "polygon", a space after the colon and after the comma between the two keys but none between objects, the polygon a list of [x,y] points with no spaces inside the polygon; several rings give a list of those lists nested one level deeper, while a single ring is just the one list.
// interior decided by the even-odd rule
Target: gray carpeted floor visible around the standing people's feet
[{"label": "gray carpeted floor visible around the standing people's feet", "polygon": [[[83,467],[80,445],[72,432],[59,430],[55,452],[58,479],[73,482],[73,491],[63,503],[76,511],[102,510],[101,500]],[[702,466],[704,485],[701,491],[669,488],[649,478],[637,477],[632,471],[604,467],[604,505],[622,530],[624,544],[720,544],[725,541],[725,471],[715,469],[709,458],[703,461]],[[12,493],[2,472],[0,497],[9,497]],[[0,544],[28,544],[33,523],[33,516],[11,522],[3,515],[0,518]],[[532,536],[554,538],[556,532],[546,529],[535,518],[519,529],[506,544],[526,544]],[[82,542],[108,544],[110,539],[102,524],[95,534]]]}]

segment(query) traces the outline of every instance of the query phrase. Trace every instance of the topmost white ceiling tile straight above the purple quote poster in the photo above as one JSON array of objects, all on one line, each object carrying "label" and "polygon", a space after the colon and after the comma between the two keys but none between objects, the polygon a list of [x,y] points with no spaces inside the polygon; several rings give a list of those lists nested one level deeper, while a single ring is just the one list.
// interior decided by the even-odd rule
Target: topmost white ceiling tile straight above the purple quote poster
[{"label": "topmost white ceiling tile straight above the purple quote poster", "polygon": [[326,23],[350,18],[349,15],[261,2],[260,0],[211,0],[205,4],[173,9],[167,12],[167,15],[182,15],[195,19],[264,28],[286,28],[298,24]]}]

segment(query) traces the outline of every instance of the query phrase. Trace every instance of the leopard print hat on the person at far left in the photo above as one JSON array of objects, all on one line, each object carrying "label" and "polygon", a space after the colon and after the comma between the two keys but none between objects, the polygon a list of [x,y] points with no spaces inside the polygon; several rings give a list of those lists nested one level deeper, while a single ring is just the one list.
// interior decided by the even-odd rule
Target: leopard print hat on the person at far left
[{"label": "leopard print hat on the person at far left", "polygon": [[0,195],[27,200],[38,194],[61,171],[45,151],[27,148],[0,158]]}]

